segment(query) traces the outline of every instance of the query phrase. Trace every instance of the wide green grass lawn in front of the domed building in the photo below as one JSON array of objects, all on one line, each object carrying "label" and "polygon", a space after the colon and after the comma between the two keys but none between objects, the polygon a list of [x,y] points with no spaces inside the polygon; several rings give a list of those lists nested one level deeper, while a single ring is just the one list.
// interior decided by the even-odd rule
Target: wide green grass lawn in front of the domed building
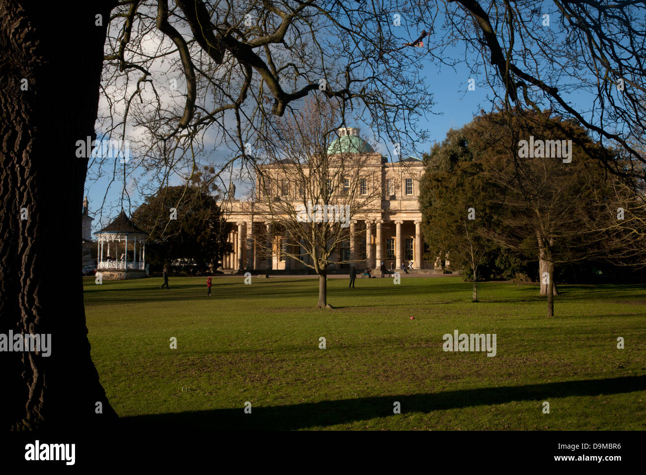
[{"label": "wide green grass lawn in front of the domed building", "polygon": [[[458,277],[359,279],[355,290],[329,279],[335,309],[315,310],[316,279],[243,280],[213,279],[207,297],[203,277],[171,277],[170,290],[160,278],[84,279],[92,359],[126,424],[646,428],[643,286],[559,286],[547,319],[532,285],[486,282],[472,303]],[[444,352],[453,330],[496,333],[497,355]]]}]

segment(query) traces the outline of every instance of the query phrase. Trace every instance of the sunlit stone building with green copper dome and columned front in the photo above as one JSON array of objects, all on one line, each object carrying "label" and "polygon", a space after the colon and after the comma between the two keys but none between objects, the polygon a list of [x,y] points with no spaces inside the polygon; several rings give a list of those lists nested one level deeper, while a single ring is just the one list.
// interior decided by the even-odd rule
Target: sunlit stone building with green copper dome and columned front
[{"label": "sunlit stone building with green copper dome and columned front", "polygon": [[[336,236],[342,241],[337,242],[329,259],[329,271],[345,272],[353,264],[357,271],[370,268],[377,273],[382,262],[386,268],[390,268],[392,262],[393,267],[399,269],[410,261],[413,261],[413,269],[435,269],[434,259],[424,260],[420,226],[419,185],[424,162],[415,157],[400,157],[396,162],[388,160],[360,137],[356,127],[340,127],[337,134],[338,138],[327,149],[333,170],[326,182],[332,201],[327,205],[317,203],[317,206],[345,203],[351,188],[358,187],[360,195],[351,200],[354,204],[346,205],[352,207],[352,213],[348,211],[352,219],[349,229],[345,227],[342,234]],[[344,169],[337,170],[343,163]],[[222,202],[231,225],[228,239],[233,249],[222,259],[222,269],[230,272],[249,269],[312,271],[303,263],[311,264],[311,257],[298,259],[304,252],[302,242],[289,232],[289,216],[293,217],[293,213],[286,211],[289,207],[284,207],[291,203],[295,210],[301,204],[306,186],[291,184],[293,180],[289,177],[300,176],[301,172],[308,176],[307,166],[291,158],[264,164],[262,176],[258,174],[254,178],[256,193],[250,199],[236,199],[233,192]],[[341,176],[343,171],[345,174]],[[351,177],[359,171],[360,181],[354,183],[355,179]],[[341,174],[337,176],[337,172]],[[268,205],[275,201],[282,202],[282,207]]]}]

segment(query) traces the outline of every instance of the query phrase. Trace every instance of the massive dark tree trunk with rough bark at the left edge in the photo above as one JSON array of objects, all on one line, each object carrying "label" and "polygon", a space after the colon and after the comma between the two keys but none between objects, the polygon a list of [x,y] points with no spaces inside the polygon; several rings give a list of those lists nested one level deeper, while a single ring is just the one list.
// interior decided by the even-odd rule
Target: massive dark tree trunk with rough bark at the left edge
[{"label": "massive dark tree trunk with rough bark at the left edge", "polygon": [[116,418],[90,359],[79,275],[88,160],[76,158],[76,141],[95,138],[112,5],[0,0],[0,333],[51,335],[48,357],[0,352],[3,429]]}]

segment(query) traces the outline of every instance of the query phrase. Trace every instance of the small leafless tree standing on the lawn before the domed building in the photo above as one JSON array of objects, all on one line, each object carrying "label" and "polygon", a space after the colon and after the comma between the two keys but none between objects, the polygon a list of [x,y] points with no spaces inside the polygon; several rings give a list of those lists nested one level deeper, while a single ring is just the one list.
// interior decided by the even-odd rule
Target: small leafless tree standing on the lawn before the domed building
[{"label": "small leafless tree standing on the lawn before the domed building", "polygon": [[380,170],[381,154],[335,143],[341,124],[337,101],[312,99],[297,117],[277,120],[275,134],[259,146],[255,213],[279,235],[260,248],[318,274],[317,308],[329,307],[329,266],[357,266],[359,259],[339,248],[358,238],[354,220],[379,211],[382,198],[381,177],[370,167]]}]

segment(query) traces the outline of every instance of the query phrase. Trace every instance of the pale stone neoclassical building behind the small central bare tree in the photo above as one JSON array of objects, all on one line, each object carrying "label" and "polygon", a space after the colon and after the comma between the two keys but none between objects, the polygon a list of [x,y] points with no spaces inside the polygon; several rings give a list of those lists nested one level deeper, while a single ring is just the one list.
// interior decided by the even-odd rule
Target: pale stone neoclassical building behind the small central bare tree
[{"label": "pale stone neoclassical building behind the small central bare tree", "polygon": [[[357,269],[379,269],[381,262],[384,262],[386,268],[393,262],[399,269],[402,262],[408,265],[410,261],[413,261],[413,269],[434,269],[434,262],[424,260],[422,213],[417,200],[419,181],[424,173],[422,161],[406,158],[395,163],[389,162],[388,158],[375,153],[371,145],[360,138],[359,129],[342,128],[337,133],[339,138],[329,145],[328,155],[362,154],[362,169],[365,169],[363,176],[367,178],[362,180],[361,191],[365,194],[373,193],[375,199],[359,215],[353,216],[349,223],[351,238],[341,243],[333,256],[337,258],[335,260],[356,262]],[[271,167],[267,171],[271,174]],[[256,188],[260,187],[256,184]],[[273,189],[272,193],[280,195],[280,186]],[[280,199],[279,196],[276,199]],[[302,255],[298,251],[299,244],[282,240],[280,231],[275,231],[271,226],[266,213],[258,211],[260,206],[257,203],[231,198],[222,207],[227,222],[233,225],[229,242],[233,244],[234,250],[224,256],[220,269],[232,273],[267,268],[307,273],[307,266],[297,259],[291,259],[284,252],[288,249],[289,254]],[[278,235],[273,236],[275,244],[271,257],[268,258],[267,253],[261,250],[268,249],[269,246],[261,240],[266,240],[269,233],[276,232]],[[329,271],[345,271],[348,267],[349,264],[333,264]]]}]

